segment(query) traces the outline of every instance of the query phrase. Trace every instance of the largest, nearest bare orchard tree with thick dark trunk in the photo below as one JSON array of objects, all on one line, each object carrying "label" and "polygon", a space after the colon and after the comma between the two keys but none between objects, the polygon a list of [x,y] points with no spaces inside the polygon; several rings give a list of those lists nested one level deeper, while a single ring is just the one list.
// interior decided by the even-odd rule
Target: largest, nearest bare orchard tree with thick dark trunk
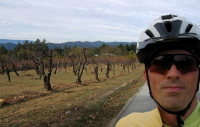
[{"label": "largest, nearest bare orchard tree with thick dark trunk", "polygon": [[[26,46],[27,57],[28,59],[32,60],[35,64],[35,69],[37,74],[39,74],[40,78],[43,77],[44,81],[44,88],[46,91],[51,91],[51,73],[52,73],[52,58],[53,58],[53,51],[49,50],[47,44],[45,44],[46,40],[44,39],[42,42],[37,39],[34,43],[25,42],[24,45]],[[47,73],[45,73],[45,64],[44,60],[48,59],[48,69]]]}]

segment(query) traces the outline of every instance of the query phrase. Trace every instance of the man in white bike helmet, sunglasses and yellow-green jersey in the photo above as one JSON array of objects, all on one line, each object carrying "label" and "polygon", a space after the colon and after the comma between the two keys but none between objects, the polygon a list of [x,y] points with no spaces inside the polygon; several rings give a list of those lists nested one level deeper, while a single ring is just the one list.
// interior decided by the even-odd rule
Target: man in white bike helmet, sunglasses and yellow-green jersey
[{"label": "man in white bike helmet, sunglasses and yellow-green jersey", "polygon": [[[141,33],[137,57],[157,108],[132,113],[116,127],[200,127],[200,30],[184,17],[165,15]],[[142,106],[142,105],[141,105]]]}]

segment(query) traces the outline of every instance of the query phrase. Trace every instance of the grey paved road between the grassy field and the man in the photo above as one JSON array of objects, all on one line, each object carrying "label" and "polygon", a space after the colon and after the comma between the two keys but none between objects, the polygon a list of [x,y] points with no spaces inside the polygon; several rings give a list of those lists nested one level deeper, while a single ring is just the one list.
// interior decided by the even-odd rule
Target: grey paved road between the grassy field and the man
[{"label": "grey paved road between the grassy field and the man", "polygon": [[[200,92],[197,93],[197,97],[200,100]],[[145,112],[150,111],[156,107],[155,102],[151,99],[149,96],[149,89],[146,84],[144,84],[138,94],[136,94],[134,97],[132,97],[127,105],[123,108],[123,110],[120,112],[118,117],[114,119],[110,127],[115,127],[117,121],[121,119],[122,117],[132,113],[132,112]]]}]

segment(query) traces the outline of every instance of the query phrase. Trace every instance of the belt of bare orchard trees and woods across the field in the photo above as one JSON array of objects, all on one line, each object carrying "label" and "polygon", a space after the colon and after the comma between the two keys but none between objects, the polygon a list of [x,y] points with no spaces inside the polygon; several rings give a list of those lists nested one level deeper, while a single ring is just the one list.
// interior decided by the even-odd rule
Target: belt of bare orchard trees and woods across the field
[{"label": "belt of bare orchard trees and woods across the field", "polygon": [[[97,48],[81,48],[69,47],[65,48],[56,47],[49,49],[46,40],[40,41],[37,39],[34,42],[25,41],[23,44],[18,45],[13,50],[7,50],[4,46],[0,47],[0,73],[7,74],[8,81],[10,82],[10,72],[15,72],[19,76],[18,71],[27,71],[35,69],[39,77],[44,81],[44,88],[52,90],[51,88],[51,74],[55,68],[56,73],[59,66],[73,68],[74,75],[77,76],[76,82],[82,84],[81,77],[83,71],[86,70],[86,65],[92,64],[94,66],[94,73],[96,80],[98,78],[98,68],[100,64],[105,64],[106,77],[109,78],[109,70],[115,64],[122,66],[134,66],[135,57],[135,44],[122,45],[118,47],[108,46],[103,44]],[[62,65],[61,62],[62,61]]]}]

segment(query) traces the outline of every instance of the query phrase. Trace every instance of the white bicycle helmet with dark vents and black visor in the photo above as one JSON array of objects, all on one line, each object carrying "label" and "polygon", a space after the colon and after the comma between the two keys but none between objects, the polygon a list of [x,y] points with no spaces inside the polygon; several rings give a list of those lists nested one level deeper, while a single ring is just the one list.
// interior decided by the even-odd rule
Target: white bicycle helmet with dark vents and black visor
[{"label": "white bicycle helmet with dark vents and black visor", "polygon": [[159,51],[185,49],[200,56],[200,29],[184,17],[165,15],[155,19],[140,35],[137,57],[141,63]]}]

